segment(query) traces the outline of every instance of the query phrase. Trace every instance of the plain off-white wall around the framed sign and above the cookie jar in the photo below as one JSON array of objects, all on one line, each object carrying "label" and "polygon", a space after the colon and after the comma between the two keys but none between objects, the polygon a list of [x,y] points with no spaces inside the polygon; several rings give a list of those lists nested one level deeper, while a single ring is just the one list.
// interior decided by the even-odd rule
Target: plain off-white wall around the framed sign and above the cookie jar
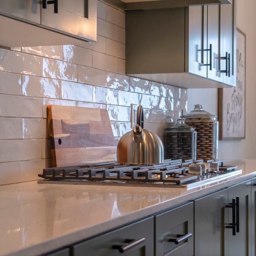
[{"label": "plain off-white wall around the framed sign and above the cookie jar", "polygon": [[[237,27],[246,34],[246,134],[245,140],[219,142],[219,159],[256,158],[256,0],[236,0]],[[188,111],[194,104],[217,115],[217,89],[189,89]]]}]

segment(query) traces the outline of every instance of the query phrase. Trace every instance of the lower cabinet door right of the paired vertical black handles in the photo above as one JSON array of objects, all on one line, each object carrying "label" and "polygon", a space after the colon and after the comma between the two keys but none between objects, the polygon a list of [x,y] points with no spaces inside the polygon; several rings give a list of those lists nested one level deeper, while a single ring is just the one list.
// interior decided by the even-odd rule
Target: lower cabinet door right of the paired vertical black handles
[{"label": "lower cabinet door right of the paired vertical black handles", "polygon": [[[228,230],[228,253],[229,256],[250,256],[251,180],[228,188],[228,201],[231,202],[232,199],[236,199],[236,234],[233,235],[232,229]],[[231,208],[229,209],[228,222],[232,223]]]}]

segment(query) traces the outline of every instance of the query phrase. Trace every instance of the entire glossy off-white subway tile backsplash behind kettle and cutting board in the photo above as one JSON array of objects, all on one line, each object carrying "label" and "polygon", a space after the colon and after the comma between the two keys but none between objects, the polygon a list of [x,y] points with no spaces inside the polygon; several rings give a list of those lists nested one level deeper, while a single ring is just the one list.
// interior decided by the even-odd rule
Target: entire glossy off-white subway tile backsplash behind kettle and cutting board
[{"label": "entire glossy off-white subway tile backsplash behind kettle and cutting board", "polygon": [[47,105],[107,109],[116,140],[131,131],[131,104],[161,138],[187,111],[186,89],[125,75],[125,12],[97,4],[97,42],[0,49],[0,185],[51,166]]}]

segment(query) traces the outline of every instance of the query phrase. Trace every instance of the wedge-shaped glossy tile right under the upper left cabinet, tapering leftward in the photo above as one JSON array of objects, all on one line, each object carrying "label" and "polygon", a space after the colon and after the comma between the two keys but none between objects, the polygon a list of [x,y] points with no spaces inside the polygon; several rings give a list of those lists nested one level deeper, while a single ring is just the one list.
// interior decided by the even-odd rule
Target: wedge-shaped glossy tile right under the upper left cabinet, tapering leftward
[{"label": "wedge-shaped glossy tile right under the upper left cabinet, tapering leftward", "polygon": [[60,59],[61,45],[22,47],[22,52],[39,55],[47,58]]}]

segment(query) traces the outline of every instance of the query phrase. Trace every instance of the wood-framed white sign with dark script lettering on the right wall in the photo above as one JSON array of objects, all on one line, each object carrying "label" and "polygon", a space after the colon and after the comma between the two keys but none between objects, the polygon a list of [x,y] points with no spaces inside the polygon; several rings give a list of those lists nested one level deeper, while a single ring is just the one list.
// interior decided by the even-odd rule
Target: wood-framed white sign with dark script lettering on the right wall
[{"label": "wood-framed white sign with dark script lettering on the right wall", "polygon": [[246,36],[236,29],[236,87],[218,90],[219,140],[245,139]]}]

